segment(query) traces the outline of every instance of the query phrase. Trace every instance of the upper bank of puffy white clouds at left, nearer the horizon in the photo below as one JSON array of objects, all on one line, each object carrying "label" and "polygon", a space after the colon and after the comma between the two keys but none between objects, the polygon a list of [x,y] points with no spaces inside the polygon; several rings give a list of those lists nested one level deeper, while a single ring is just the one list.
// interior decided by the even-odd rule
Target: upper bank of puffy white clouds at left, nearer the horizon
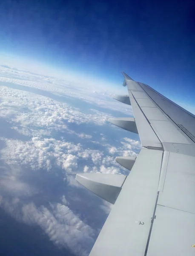
[{"label": "upper bank of puffy white clouds at left, nearer the horizon", "polygon": [[[104,125],[111,117],[110,114],[95,109],[89,109],[92,113],[86,114],[64,102],[56,102],[48,97],[35,96],[34,93],[8,87],[0,87],[0,94],[2,108],[0,115],[9,118],[9,122],[14,124],[12,128],[27,136],[66,131],[80,138],[90,139],[91,135],[77,133],[71,130],[69,125],[72,123]],[[102,137],[102,140],[104,139]]]}]

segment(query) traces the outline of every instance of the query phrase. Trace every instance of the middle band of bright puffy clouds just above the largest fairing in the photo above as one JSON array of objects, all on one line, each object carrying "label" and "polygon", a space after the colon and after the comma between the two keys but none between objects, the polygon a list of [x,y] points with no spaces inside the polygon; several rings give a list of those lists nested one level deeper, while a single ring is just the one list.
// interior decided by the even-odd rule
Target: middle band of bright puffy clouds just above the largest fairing
[{"label": "middle band of bright puffy clouds just above the largest fairing", "polygon": [[[103,151],[93,149],[83,149],[80,143],[74,144],[66,140],[55,140],[54,138],[33,137],[32,140],[23,142],[20,140],[2,139],[6,143],[1,155],[6,164],[16,166],[29,166],[32,170],[46,169],[48,171],[59,166],[66,172],[76,171],[79,160],[83,162],[84,172],[120,173],[118,163],[109,155],[104,155]],[[130,144],[122,143],[122,147],[112,147],[115,155],[137,156]],[[110,151],[110,149],[109,149]],[[91,164],[89,164],[91,161]],[[82,166],[80,165],[80,166]],[[112,166],[111,166],[112,165]],[[111,166],[111,167],[110,167]]]}]

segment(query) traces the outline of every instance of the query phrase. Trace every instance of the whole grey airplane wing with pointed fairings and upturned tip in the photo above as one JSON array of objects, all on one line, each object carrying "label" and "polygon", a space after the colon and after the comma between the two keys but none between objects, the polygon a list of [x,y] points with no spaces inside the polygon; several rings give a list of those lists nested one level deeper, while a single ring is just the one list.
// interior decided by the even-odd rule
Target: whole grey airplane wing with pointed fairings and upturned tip
[{"label": "whole grey airplane wing with pointed fairings and upturned tip", "polygon": [[116,157],[129,176],[77,174],[114,204],[90,256],[195,256],[195,116],[126,73],[134,118],[109,119],[138,133],[142,149]]}]

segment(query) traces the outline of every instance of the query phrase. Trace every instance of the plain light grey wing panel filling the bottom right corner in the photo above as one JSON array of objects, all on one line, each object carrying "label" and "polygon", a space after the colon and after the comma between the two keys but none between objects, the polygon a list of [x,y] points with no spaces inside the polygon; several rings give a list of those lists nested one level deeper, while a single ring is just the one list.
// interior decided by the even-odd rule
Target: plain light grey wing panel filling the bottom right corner
[{"label": "plain light grey wing panel filling the bottom right corner", "polygon": [[194,256],[195,214],[157,205],[147,256]]}]

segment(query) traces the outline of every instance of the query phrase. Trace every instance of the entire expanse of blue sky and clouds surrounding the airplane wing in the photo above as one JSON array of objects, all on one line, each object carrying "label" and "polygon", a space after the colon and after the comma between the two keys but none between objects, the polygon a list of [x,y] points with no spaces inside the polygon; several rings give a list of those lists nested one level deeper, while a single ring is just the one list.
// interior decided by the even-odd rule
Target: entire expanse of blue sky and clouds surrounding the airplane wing
[{"label": "entire expanse of blue sky and clouds surrounding the airplane wing", "polygon": [[[125,71],[195,113],[192,0],[0,3],[0,248],[88,256],[112,206],[71,172],[128,175]],[[64,76],[64,77],[63,77]],[[10,246],[11,245],[11,246]]]}]

